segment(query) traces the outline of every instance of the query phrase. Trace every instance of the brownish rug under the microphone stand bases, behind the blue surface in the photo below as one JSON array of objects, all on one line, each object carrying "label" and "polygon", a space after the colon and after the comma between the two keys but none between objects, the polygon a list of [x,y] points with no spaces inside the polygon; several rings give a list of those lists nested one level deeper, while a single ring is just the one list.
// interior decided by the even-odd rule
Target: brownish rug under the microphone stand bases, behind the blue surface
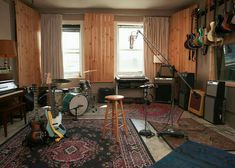
[{"label": "brownish rug under the microphone stand bases, behind the blue surface", "polygon": [[[150,122],[150,124],[156,129],[156,131],[162,131],[163,124],[158,122]],[[173,129],[175,131],[184,132],[185,134],[185,138],[163,135],[163,139],[173,149],[189,139],[222,150],[235,150],[234,141],[193,120],[192,118],[181,118],[177,125],[173,125]]]}]

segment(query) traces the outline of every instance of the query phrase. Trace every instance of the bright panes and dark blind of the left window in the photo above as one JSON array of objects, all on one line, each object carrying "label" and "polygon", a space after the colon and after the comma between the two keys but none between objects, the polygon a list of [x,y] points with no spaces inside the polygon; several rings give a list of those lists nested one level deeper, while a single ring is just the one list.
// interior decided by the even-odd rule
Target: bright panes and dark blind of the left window
[{"label": "bright panes and dark blind of the left window", "polygon": [[82,70],[80,25],[62,27],[64,78],[78,78]]}]

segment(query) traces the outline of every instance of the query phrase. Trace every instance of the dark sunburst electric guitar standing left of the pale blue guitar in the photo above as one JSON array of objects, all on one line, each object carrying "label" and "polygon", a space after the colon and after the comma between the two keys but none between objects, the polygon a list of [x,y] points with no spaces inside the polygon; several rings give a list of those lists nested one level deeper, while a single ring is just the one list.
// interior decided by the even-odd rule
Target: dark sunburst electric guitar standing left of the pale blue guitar
[{"label": "dark sunburst electric guitar standing left of the pale blue guitar", "polygon": [[32,85],[33,95],[34,95],[34,109],[35,119],[30,122],[31,126],[31,141],[32,142],[43,142],[45,138],[45,133],[43,131],[43,123],[39,121],[38,113],[38,90],[36,84]]}]

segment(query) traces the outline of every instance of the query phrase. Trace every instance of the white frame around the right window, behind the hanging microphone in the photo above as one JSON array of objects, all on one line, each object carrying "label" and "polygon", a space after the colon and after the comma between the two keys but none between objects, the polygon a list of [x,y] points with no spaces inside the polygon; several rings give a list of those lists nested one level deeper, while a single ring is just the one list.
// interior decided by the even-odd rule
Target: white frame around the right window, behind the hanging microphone
[{"label": "white frame around the right window, behind the hanging microphone", "polygon": [[[120,25],[123,25],[123,26],[141,26],[142,27],[142,29],[143,29],[143,31],[144,31],[144,23],[143,22],[116,22],[116,24],[115,24],[115,29],[116,29],[116,40],[115,40],[115,42],[116,42],[116,64],[115,64],[115,66],[116,66],[116,68],[115,68],[115,74],[116,75],[137,75],[137,76],[144,76],[145,75],[145,64],[144,64],[144,42],[143,42],[143,69],[142,69],[142,74],[140,74],[140,73],[136,73],[136,72],[120,72],[119,71],[119,52],[120,52],[120,49],[119,49],[119,26]],[[130,34],[131,35],[131,34]],[[138,37],[138,38],[142,38],[142,37]],[[140,49],[135,49],[135,48],[133,48],[133,49],[124,49],[124,50],[132,50],[132,51],[138,51],[138,50],[140,50]],[[123,51],[124,51],[123,50]]]}]

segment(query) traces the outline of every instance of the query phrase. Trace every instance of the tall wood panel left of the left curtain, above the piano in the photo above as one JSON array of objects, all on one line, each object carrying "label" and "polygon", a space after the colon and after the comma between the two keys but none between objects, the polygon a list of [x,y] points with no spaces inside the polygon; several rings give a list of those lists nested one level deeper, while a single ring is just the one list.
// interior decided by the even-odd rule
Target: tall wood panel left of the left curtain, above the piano
[{"label": "tall wood panel left of the left curtain, above the piano", "polygon": [[19,86],[40,85],[40,15],[21,1],[15,2]]}]

